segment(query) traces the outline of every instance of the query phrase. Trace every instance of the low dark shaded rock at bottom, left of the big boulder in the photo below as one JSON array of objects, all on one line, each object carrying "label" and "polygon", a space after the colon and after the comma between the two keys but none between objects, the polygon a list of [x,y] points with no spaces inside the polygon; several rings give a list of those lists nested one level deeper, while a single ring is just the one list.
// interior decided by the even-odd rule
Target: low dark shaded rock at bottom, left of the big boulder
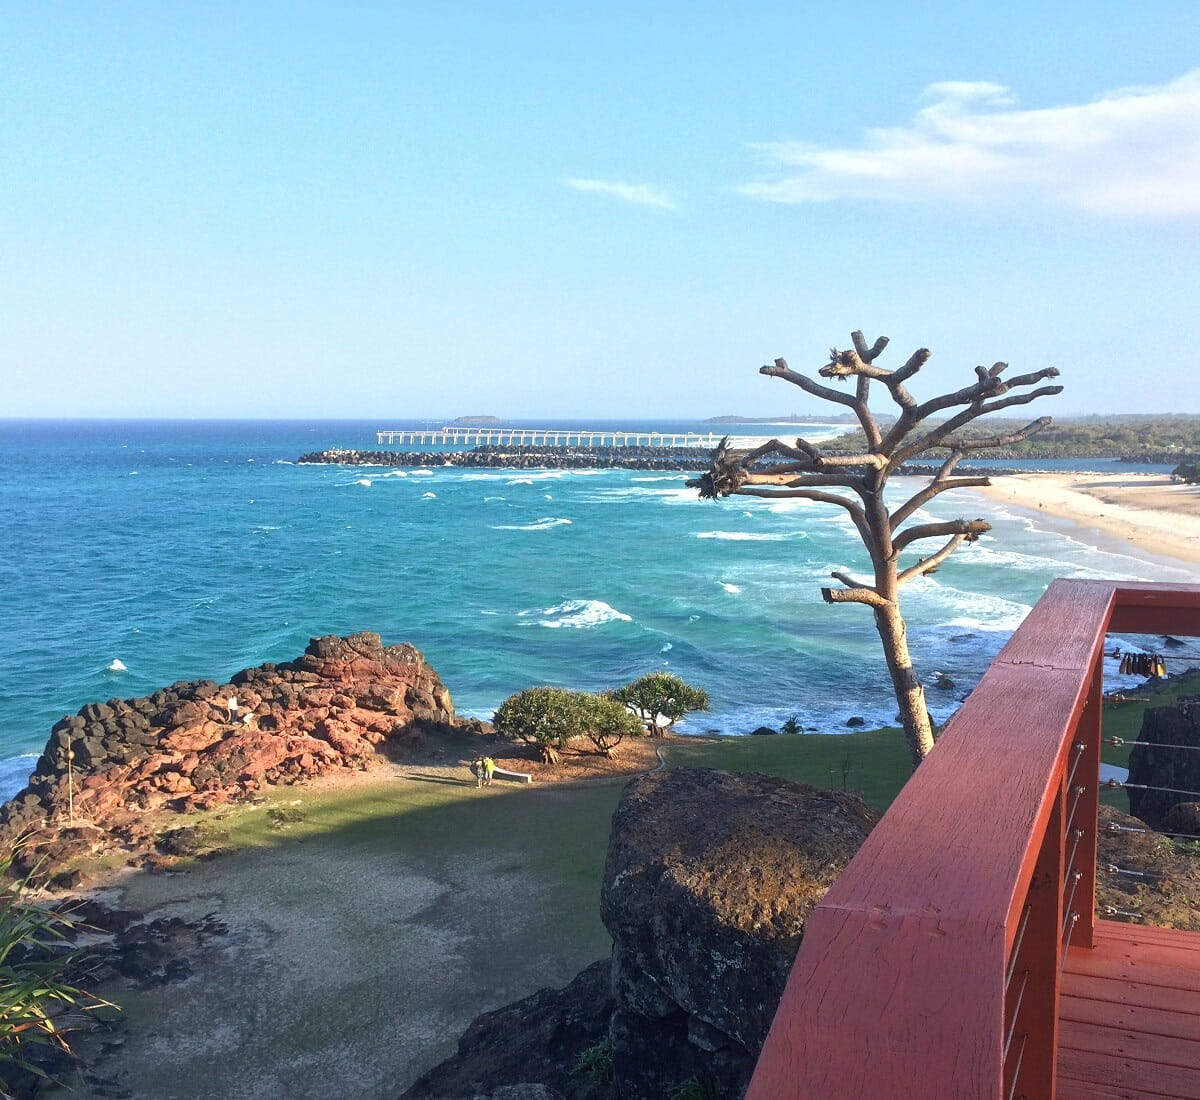
[{"label": "low dark shaded rock at bottom, left of the big boulder", "polygon": [[[565,988],[540,990],[485,1012],[458,1040],[458,1052],[418,1078],[400,1100],[547,1093],[587,1100],[587,1083],[572,1071],[583,1051],[607,1039],[613,1010],[610,969],[607,960],[594,962]],[[535,1084],[546,1092],[503,1092]]]}]

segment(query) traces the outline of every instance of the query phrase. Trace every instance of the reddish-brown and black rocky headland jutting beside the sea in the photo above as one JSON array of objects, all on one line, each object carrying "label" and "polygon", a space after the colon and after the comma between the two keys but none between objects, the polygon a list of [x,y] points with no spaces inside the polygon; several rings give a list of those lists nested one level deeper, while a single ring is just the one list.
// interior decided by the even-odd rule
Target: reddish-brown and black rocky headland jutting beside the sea
[{"label": "reddish-brown and black rocky headland jutting beside the sea", "polygon": [[298,660],[227,684],[180,681],[65,716],[29,786],[0,807],[0,842],[25,836],[18,862],[43,859],[46,870],[113,837],[136,841],[148,811],[361,770],[386,746],[455,722],[449,691],[414,647],[374,633],[313,638]]}]

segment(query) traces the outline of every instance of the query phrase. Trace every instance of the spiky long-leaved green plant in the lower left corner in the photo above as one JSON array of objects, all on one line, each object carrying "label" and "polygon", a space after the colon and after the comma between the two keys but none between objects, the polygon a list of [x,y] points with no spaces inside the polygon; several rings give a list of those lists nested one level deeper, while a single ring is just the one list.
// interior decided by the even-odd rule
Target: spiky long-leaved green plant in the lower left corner
[{"label": "spiky long-leaved green plant in the lower left corner", "polygon": [[[47,1047],[71,1053],[65,1033],[66,1010],[92,1012],[112,1008],[67,984],[77,955],[68,937],[70,914],[43,909],[25,900],[30,876],[12,880],[12,856],[0,859],[0,1095],[8,1095],[13,1071],[48,1076],[38,1065]],[[37,868],[35,867],[35,871]],[[42,1052],[43,1057],[38,1058]]]}]

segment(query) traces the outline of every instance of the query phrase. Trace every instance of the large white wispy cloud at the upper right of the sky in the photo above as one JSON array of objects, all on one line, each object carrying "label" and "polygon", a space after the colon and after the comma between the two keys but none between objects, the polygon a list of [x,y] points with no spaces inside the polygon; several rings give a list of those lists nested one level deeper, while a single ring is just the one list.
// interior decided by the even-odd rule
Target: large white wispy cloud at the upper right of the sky
[{"label": "large white wispy cloud at the upper right of the sky", "polygon": [[775,203],[835,199],[1038,202],[1099,215],[1200,215],[1200,68],[1091,103],[1019,110],[1001,84],[947,80],[905,126],[862,144],[769,142],[770,178],[738,188]]}]

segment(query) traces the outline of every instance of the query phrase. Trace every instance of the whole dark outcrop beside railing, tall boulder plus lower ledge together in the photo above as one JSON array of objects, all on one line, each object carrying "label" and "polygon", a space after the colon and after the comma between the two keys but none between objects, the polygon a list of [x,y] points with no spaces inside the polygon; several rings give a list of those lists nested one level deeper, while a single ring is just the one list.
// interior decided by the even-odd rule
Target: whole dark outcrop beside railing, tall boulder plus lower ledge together
[{"label": "whole dark outcrop beside railing, tall boulder plus lower ledge together", "polygon": [[480,1016],[401,1100],[530,1083],[572,1100],[740,1096],[808,915],[875,821],[856,795],[770,776],[634,780],[601,892],[611,964]]}]

